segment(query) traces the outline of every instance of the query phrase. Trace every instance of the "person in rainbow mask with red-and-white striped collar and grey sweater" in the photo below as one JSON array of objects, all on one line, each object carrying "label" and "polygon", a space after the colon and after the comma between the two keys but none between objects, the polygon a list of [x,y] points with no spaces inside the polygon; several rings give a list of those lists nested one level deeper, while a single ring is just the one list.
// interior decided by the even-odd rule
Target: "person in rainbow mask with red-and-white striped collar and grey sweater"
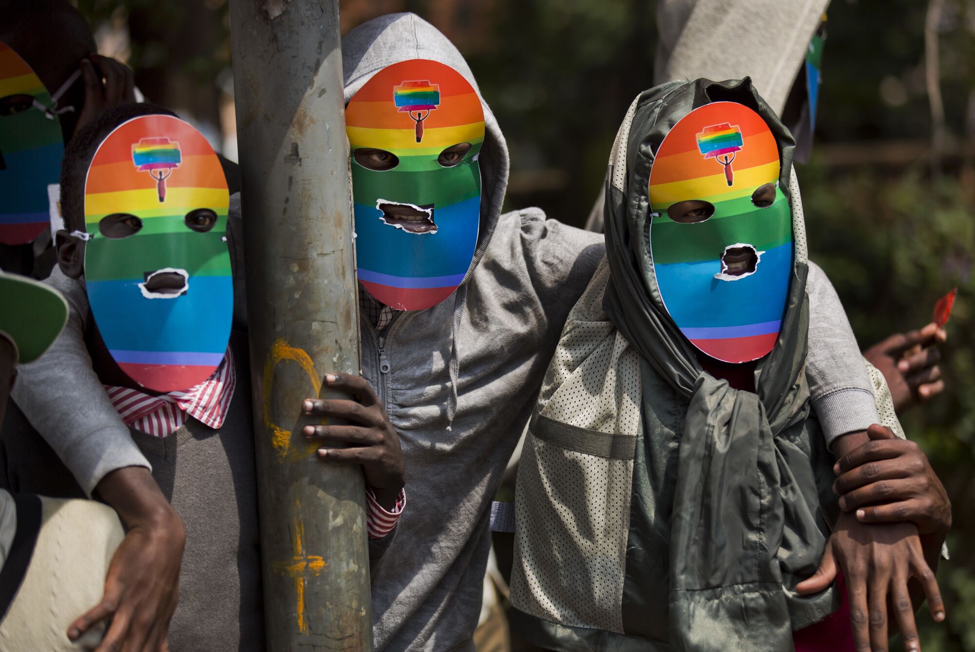
[{"label": "person in rainbow mask with red-and-white striped collar and grey sweater", "polygon": [[[74,406],[71,428],[91,426],[93,412],[104,419],[110,406],[125,434],[111,436],[111,445],[104,437],[105,447],[93,451],[52,442],[81,489],[132,528],[104,596],[73,614],[68,635],[76,639],[110,617],[106,645],[156,649],[168,637],[173,650],[263,649],[246,313],[234,300],[244,295],[234,290],[243,276],[235,267],[240,214],[229,209],[220,163],[188,123],[151,104],[125,104],[79,132],[61,184],[68,230],[59,231],[59,269],[49,282],[72,306],[74,337],[60,338],[25,376],[28,385],[46,374],[63,377],[77,369],[70,362],[77,346],[90,355],[84,371],[94,369],[101,391],[84,410]],[[87,373],[67,375],[68,394],[75,384],[92,388]],[[43,428],[47,415],[20,404]],[[30,426],[13,424],[5,440],[29,442]],[[48,460],[41,471],[30,457],[8,462],[43,489],[59,463]],[[92,466],[94,473],[77,470]],[[370,487],[366,521],[376,558],[405,504],[402,482],[392,509],[379,506],[377,489]],[[143,522],[159,521],[160,511],[161,527]],[[120,599],[134,587],[141,604]],[[150,617],[136,620],[140,610]]]}]

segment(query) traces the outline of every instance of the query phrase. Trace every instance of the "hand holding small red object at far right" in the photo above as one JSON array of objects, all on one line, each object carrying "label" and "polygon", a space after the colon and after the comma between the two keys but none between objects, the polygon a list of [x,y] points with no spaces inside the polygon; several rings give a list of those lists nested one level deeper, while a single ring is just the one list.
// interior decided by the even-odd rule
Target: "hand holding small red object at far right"
[{"label": "hand holding small red object at far right", "polygon": [[900,412],[944,391],[938,345],[947,339],[945,329],[932,322],[917,331],[891,335],[863,352],[887,381],[894,410]]}]

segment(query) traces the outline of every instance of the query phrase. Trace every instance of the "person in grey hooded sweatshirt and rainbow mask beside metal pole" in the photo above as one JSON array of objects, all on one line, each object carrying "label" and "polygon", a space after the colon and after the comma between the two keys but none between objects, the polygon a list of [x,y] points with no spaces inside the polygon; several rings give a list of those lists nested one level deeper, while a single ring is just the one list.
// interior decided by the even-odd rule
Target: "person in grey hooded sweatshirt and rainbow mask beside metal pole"
[{"label": "person in grey hooded sweatshirt and rainbow mask beside metal pole", "polygon": [[[358,405],[310,397],[303,407],[348,418],[353,428],[306,434],[327,460],[365,464],[376,487],[402,447],[411,507],[391,544],[395,559],[386,555],[371,569],[376,649],[470,649],[490,504],[565,318],[604,256],[603,237],[538,209],[502,215],[504,137],[467,63],[432,25],[411,14],[370,20],[343,37],[342,61],[364,377],[326,377],[352,389]],[[423,97],[409,98],[409,89]],[[233,199],[229,216],[233,224]],[[837,337],[852,339],[842,315],[811,318],[839,324]],[[60,359],[81,369],[82,353],[71,352],[78,331],[61,340],[71,338]],[[826,352],[815,343],[811,350]],[[845,383],[845,368],[824,364],[845,387],[855,385]],[[128,428],[104,409],[98,384],[77,382],[52,406],[43,387],[62,377],[51,368],[23,376],[20,407],[86,486],[111,466],[99,455],[138,454]],[[845,397],[835,399],[842,411]],[[78,447],[79,431],[96,434]],[[395,502],[396,484],[387,471],[377,498]]]}]

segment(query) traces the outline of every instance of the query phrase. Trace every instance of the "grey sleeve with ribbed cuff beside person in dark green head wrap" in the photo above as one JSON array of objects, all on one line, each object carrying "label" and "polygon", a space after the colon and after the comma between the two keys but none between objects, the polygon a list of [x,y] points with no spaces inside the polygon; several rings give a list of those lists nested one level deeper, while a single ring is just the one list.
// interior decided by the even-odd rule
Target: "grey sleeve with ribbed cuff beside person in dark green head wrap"
[{"label": "grey sleeve with ribbed cuff beside person in dark green head wrap", "polygon": [[830,279],[809,263],[806,379],[826,443],[880,423],[873,383]]}]

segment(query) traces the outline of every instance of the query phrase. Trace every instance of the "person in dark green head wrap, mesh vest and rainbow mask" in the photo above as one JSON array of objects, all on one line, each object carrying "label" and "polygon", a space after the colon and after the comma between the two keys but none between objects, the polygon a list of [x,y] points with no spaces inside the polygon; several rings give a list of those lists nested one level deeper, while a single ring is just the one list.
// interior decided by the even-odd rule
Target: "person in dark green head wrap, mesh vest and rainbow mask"
[{"label": "person in dark green head wrap, mesh vest and rainbow mask", "polygon": [[[702,146],[716,133],[737,136]],[[866,550],[872,630],[888,595],[911,604],[909,578],[944,617],[929,566],[945,531],[922,554],[913,523],[839,513],[805,378],[817,343],[794,145],[748,78],[631,104],[606,176],[606,259],[568,316],[519,469],[511,599],[533,643],[852,650],[842,586],[801,587],[830,547],[858,582]],[[732,152],[709,156],[727,147],[733,174]],[[900,431],[872,373],[887,408],[872,428]],[[854,622],[867,603],[850,591]],[[897,619],[914,633],[910,609]]]}]

